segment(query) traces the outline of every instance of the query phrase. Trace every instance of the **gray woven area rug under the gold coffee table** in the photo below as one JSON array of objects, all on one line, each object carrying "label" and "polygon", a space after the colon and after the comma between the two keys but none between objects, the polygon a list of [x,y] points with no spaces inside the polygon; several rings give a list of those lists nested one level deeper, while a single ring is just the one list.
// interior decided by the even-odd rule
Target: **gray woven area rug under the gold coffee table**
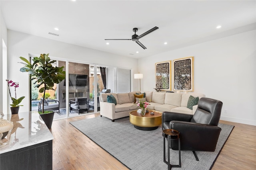
[{"label": "gray woven area rug under the gold coffee table", "polygon": [[[134,128],[129,117],[117,119],[115,122],[106,117],[95,117],[70,124],[131,170],[166,170],[168,168],[163,161],[161,127],[154,131],[141,131]],[[196,151],[199,158],[199,161],[196,161],[192,151],[182,150],[181,168],[172,168],[172,170],[210,170],[234,128],[232,125],[221,123],[219,127],[222,131],[214,152]],[[170,150],[170,162],[178,164],[178,151]]]}]

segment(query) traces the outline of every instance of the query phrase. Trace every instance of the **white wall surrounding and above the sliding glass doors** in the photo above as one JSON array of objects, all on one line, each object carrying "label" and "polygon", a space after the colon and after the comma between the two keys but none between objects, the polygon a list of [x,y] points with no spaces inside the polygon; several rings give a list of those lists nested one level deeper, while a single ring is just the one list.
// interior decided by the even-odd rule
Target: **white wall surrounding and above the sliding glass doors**
[{"label": "white wall surrounding and above the sliding glass doors", "polygon": [[[21,103],[24,106],[20,107],[20,111],[28,111],[29,109],[29,80],[26,73],[20,72],[20,68],[23,64],[18,62],[21,62],[19,59],[20,56],[28,59],[29,53],[50,53],[51,57],[72,59],[73,61],[78,62],[97,63],[99,65],[102,64],[103,66],[130,68],[132,69],[132,72],[138,72],[138,59],[122,57],[111,53],[8,30],[8,78],[20,83],[20,88],[17,88],[17,97],[26,96]],[[20,89],[22,89],[22,91],[20,91]],[[133,89],[138,89],[137,83],[134,83],[132,86],[132,90]],[[9,103],[10,102],[11,101],[9,101]]]}]

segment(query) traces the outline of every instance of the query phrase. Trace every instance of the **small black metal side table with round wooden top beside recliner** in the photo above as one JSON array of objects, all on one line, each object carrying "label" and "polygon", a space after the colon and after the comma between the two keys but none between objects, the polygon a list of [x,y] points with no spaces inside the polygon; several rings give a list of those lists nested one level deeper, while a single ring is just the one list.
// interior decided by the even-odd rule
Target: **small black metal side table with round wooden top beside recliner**
[{"label": "small black metal side table with round wooden top beside recliner", "polygon": [[[164,129],[162,136],[164,137],[164,163],[168,165],[168,170],[172,167],[180,168],[181,167],[181,159],[180,159],[180,132],[174,129]],[[168,162],[166,161],[165,154],[165,138],[167,139],[167,148],[168,148]],[[179,164],[178,165],[171,165],[170,164],[170,140],[177,140],[179,142]]]}]

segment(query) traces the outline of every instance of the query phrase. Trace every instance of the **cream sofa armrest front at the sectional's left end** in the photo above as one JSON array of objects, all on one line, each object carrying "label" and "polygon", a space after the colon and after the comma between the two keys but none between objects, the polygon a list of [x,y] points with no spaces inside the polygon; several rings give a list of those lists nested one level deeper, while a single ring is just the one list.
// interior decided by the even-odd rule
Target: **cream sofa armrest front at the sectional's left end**
[{"label": "cream sofa armrest front at the sectional's left end", "polygon": [[115,119],[115,104],[108,102],[100,102],[100,115],[108,117],[111,120]]}]

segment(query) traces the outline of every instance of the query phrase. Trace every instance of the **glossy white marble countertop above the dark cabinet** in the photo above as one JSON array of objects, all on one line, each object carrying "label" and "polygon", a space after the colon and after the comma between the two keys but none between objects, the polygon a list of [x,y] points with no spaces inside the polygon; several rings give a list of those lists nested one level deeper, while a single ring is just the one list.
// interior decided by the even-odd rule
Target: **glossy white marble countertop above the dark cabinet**
[{"label": "glossy white marble countertop above the dark cabinet", "polygon": [[4,115],[3,119],[13,122],[13,128],[2,139],[7,143],[0,147],[0,154],[53,140],[52,133],[37,111]]}]

